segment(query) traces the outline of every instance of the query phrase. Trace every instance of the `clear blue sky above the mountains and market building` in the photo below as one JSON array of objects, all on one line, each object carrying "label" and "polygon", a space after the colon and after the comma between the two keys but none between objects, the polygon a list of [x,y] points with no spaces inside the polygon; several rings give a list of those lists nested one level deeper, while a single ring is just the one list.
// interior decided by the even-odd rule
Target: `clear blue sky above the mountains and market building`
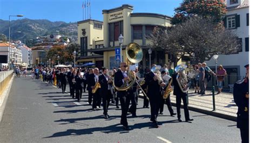
[{"label": "clear blue sky above the mountains and market building", "polygon": [[[0,0],[0,19],[9,15],[24,15],[29,19],[48,19],[52,22],[78,22],[83,20],[82,4],[85,0]],[[87,2],[88,0],[86,0]],[[182,0],[91,0],[91,18],[103,21],[102,10],[122,4],[133,6],[133,12],[151,12],[173,16]],[[87,14],[86,14],[87,15]],[[11,20],[17,19],[11,17]]]}]

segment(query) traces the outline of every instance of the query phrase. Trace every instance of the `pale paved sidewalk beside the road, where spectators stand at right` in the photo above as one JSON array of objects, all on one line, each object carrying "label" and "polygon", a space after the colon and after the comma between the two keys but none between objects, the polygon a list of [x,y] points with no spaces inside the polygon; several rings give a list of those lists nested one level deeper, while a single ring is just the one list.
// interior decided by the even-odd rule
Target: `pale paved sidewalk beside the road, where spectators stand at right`
[{"label": "pale paved sidewalk beside the road, where spectators stand at right", "polygon": [[[143,94],[139,95],[143,97]],[[171,94],[172,105],[176,106],[176,96]],[[183,103],[181,102],[181,105]],[[205,113],[228,120],[237,120],[237,105],[234,103],[233,94],[221,93],[215,95],[215,111],[213,111],[213,96],[211,91],[205,95],[195,94],[193,90],[188,92],[188,109]]]}]

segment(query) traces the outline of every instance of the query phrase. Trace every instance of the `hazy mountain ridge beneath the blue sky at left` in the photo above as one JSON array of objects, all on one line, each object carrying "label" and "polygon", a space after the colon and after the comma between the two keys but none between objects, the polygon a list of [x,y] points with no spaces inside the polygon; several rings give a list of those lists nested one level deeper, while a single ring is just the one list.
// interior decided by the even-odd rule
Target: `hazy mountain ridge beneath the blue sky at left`
[{"label": "hazy mountain ridge beneath the blue sky at left", "polygon": [[[0,34],[9,38],[9,21],[0,19]],[[71,41],[77,41],[77,23],[62,21],[51,22],[48,19],[17,19],[11,21],[11,39],[24,42],[29,39],[46,36],[48,34],[60,34]]]}]

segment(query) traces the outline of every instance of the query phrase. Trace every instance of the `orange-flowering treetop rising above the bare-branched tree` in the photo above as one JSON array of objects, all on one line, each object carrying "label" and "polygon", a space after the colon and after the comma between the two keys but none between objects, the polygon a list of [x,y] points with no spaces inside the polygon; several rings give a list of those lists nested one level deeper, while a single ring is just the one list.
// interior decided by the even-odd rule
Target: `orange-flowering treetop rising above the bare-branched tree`
[{"label": "orange-flowering treetop rising above the bare-branched tree", "polygon": [[187,18],[198,15],[204,18],[213,18],[214,23],[222,22],[227,13],[224,0],[185,0],[175,9],[175,15],[172,18],[172,24],[184,22]]}]

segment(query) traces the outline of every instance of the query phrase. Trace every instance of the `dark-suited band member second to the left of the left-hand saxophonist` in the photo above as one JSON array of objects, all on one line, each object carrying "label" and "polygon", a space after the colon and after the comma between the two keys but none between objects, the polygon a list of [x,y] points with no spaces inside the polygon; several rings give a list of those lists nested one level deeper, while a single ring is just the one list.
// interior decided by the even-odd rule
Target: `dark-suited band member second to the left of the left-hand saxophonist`
[{"label": "dark-suited band member second to the left of the left-hand saxophonist", "polygon": [[81,71],[77,71],[77,75],[75,77],[76,80],[76,98],[77,101],[80,102],[80,99],[82,98],[82,94],[83,94],[83,76],[81,75]]}]

